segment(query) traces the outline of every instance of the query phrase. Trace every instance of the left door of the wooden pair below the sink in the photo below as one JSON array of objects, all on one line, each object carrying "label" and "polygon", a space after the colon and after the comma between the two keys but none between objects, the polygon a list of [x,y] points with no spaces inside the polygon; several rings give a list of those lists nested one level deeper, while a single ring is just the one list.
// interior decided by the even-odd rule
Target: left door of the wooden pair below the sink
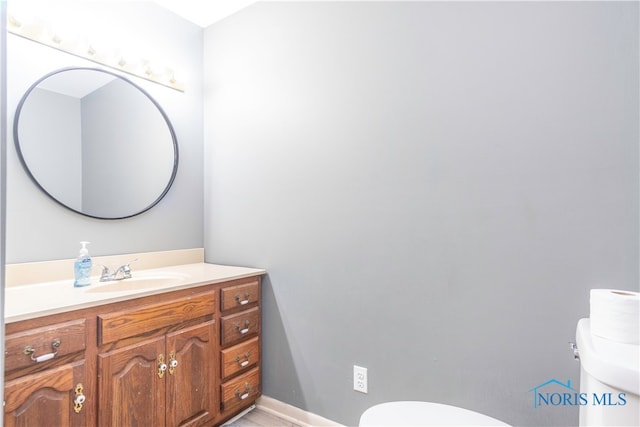
[{"label": "left door of the wooden pair below the sink", "polygon": [[164,337],[98,355],[99,426],[163,426]]}]

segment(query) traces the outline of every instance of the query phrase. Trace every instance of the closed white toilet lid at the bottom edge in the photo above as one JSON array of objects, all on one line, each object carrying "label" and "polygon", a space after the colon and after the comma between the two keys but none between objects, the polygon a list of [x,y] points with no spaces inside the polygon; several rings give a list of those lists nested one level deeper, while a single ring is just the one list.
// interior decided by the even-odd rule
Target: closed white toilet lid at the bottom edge
[{"label": "closed white toilet lid at the bottom edge", "polygon": [[456,406],[431,402],[387,402],[360,417],[363,426],[508,426],[502,421]]}]

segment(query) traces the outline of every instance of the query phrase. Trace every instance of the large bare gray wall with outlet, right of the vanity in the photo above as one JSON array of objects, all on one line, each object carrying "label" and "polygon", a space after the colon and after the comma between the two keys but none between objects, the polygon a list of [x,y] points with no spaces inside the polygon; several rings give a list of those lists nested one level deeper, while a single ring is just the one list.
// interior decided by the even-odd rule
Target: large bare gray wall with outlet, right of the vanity
[{"label": "large bare gray wall with outlet, right of the vanity", "polygon": [[[257,3],[205,30],[207,260],[265,267],[264,393],[515,425],[638,290],[638,4]],[[369,394],[352,391],[352,365]]]}]

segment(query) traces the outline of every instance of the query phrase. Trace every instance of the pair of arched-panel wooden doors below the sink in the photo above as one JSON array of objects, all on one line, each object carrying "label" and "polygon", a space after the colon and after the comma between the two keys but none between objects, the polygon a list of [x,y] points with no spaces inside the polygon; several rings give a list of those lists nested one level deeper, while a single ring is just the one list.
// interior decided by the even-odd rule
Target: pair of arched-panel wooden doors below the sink
[{"label": "pair of arched-panel wooden doors below the sink", "polygon": [[98,394],[103,407],[98,425],[210,423],[217,403],[211,363],[215,358],[214,324],[205,322],[99,354]]}]

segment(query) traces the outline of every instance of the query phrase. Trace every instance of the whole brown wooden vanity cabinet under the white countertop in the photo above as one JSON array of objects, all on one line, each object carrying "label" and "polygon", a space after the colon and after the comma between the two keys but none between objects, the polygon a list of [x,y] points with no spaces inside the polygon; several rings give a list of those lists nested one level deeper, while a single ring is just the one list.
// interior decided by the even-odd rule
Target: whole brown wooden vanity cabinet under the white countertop
[{"label": "whole brown wooden vanity cabinet under the white countertop", "polygon": [[[7,324],[5,426],[221,424],[260,396],[259,285],[255,276]],[[38,358],[55,340],[49,360],[24,354],[36,347]]]}]

